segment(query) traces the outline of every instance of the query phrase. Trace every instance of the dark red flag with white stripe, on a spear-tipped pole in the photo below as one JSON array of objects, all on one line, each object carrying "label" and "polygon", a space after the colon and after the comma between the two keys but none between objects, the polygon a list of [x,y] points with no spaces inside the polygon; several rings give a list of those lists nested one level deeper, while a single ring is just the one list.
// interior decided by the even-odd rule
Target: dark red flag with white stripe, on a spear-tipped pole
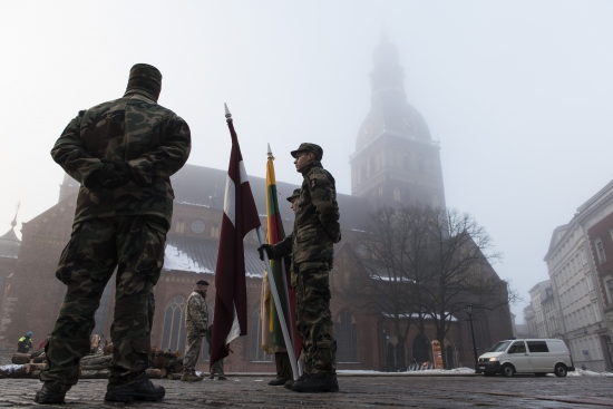
[{"label": "dark red flag with white stripe, on a spear-tipped pole", "polygon": [[211,364],[227,357],[227,344],[247,334],[247,292],[243,238],[260,227],[241,147],[226,107],[232,153],[225,183],[224,214],[215,267],[215,313],[211,340]]}]

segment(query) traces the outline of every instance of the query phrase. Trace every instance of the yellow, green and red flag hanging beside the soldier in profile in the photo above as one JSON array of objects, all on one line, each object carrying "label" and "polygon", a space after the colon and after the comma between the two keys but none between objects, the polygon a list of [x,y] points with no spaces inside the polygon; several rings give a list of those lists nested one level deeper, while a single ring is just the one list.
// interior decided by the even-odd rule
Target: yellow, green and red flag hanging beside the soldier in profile
[{"label": "yellow, green and red flag hanging beside the soldier in profile", "polygon": [[[279,211],[273,160],[274,157],[272,154],[269,154],[266,163],[266,243],[269,244],[279,243],[285,237],[281,213]],[[283,315],[285,317],[288,328],[291,329],[293,347],[298,357],[302,348],[302,340],[298,335],[295,327],[295,292],[285,284],[291,282],[290,269],[289,265],[283,269],[281,262],[276,260],[271,260],[270,265],[272,274],[274,275],[279,298],[281,299]],[[285,273],[285,280],[283,273]],[[290,302],[289,308],[286,304],[288,300]],[[264,279],[262,280],[261,311],[262,349],[269,354],[282,352],[286,348],[286,344],[283,339],[283,331],[281,329],[276,305],[273,301],[271,283],[266,271],[264,271]]]}]

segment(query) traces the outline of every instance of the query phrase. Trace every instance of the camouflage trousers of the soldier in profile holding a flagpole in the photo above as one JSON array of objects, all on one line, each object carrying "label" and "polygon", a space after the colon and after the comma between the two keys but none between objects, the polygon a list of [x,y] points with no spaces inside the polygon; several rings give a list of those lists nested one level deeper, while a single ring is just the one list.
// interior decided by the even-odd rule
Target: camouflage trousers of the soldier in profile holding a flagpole
[{"label": "camouflage trousers of the soldier in profile holding a flagpole", "polygon": [[329,276],[330,272],[323,265],[298,273],[296,325],[302,339],[304,372],[308,374],[337,373],[337,340],[330,312]]}]

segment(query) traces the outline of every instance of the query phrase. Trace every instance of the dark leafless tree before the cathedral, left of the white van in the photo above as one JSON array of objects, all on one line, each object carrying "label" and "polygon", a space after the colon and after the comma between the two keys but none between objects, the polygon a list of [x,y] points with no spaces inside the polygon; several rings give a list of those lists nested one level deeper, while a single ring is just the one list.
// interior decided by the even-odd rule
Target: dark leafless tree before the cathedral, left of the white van
[{"label": "dark leafless tree before the cathedral, left of the white van", "polygon": [[430,348],[426,320],[444,347],[467,302],[493,310],[516,298],[490,266],[500,257],[492,238],[468,214],[417,205],[383,207],[369,217],[356,244],[366,272],[354,281],[354,291],[362,293],[356,300],[392,322],[402,348],[400,368],[406,368],[403,349],[412,323],[425,350]]}]

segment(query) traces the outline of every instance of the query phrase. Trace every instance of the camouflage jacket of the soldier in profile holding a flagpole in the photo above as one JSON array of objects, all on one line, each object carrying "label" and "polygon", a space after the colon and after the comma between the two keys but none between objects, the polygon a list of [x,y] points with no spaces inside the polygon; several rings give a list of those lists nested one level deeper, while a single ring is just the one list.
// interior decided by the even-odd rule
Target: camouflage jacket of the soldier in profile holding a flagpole
[{"label": "camouflage jacket of the soldier in profile holding a flagpole", "polygon": [[[332,266],[333,243],[341,240],[337,187],[332,175],[319,160],[302,173],[294,228],[273,246],[274,257],[292,254],[292,271]],[[298,266],[298,269],[296,269]]]}]

